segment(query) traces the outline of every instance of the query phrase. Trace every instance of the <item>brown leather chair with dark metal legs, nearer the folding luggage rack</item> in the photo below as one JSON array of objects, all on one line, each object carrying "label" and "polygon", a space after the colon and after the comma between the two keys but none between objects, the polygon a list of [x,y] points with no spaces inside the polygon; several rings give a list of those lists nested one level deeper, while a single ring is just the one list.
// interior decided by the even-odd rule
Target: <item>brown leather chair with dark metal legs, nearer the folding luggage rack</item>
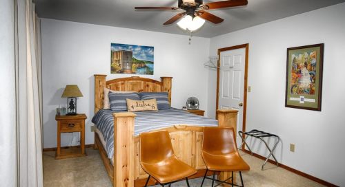
[{"label": "brown leather chair with dark metal legs, nearer the folding luggage rack", "polygon": [[[237,184],[233,184],[233,175],[234,171],[239,171],[242,186],[244,187],[241,171],[250,170],[250,167],[244,159],[242,159],[241,155],[239,155],[235,138],[233,127],[204,127],[201,156],[206,164],[206,173],[208,170],[214,171],[212,186],[215,181],[219,181],[215,179],[216,171],[231,171],[232,173],[230,178],[225,181],[219,181],[221,183],[216,186],[223,183],[238,186]],[[201,186],[204,184],[205,178],[211,179],[206,177],[206,173],[204,179],[202,179]],[[226,182],[229,179],[231,179],[231,183]]]}]

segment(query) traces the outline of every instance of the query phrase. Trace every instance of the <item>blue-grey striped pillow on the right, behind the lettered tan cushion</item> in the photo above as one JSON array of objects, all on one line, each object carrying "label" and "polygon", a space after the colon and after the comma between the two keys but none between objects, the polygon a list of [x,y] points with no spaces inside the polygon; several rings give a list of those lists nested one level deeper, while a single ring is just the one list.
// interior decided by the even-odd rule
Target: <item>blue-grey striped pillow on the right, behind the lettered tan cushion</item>
[{"label": "blue-grey striped pillow on the right, behind the lettered tan cushion", "polygon": [[159,110],[170,109],[168,92],[140,92],[140,98],[141,100],[150,100],[155,98]]}]

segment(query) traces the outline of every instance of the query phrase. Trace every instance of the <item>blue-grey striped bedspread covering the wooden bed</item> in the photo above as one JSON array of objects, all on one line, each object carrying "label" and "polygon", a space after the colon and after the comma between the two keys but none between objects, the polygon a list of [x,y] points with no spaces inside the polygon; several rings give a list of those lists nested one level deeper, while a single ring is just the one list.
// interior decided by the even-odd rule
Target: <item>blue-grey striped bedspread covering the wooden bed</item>
[{"label": "blue-grey striped bedspread covering the wooden bed", "polygon": [[[117,112],[117,111],[116,111]],[[126,111],[124,111],[126,112]],[[106,152],[110,159],[114,155],[114,116],[115,111],[103,110],[98,111],[92,118],[97,129],[101,131],[106,141]],[[134,112],[135,117],[134,135],[173,126],[175,124],[187,124],[191,126],[218,126],[218,121],[206,118],[201,115],[195,115],[181,109],[166,109],[159,111],[140,111]]]}]

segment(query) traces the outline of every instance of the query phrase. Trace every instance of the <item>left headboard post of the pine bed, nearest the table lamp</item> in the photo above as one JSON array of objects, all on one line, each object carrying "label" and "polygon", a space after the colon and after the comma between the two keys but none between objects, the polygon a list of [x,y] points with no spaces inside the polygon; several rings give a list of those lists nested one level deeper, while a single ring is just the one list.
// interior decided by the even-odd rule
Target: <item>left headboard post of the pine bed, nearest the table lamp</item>
[{"label": "left headboard post of the pine bed, nearest the table lamp", "polygon": [[[106,87],[106,75],[95,76],[95,113],[103,109],[103,87]],[[98,149],[96,144],[97,133],[95,131],[95,143],[93,149]]]}]

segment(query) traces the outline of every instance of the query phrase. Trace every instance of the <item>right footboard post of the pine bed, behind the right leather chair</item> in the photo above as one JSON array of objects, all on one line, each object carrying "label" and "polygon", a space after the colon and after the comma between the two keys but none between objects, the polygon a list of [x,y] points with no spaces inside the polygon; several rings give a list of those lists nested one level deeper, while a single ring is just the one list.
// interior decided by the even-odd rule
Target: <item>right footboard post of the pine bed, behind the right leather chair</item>
[{"label": "right footboard post of the pine bed, behind the right leather chair", "polygon": [[[235,133],[237,132],[237,110],[221,109],[217,110],[218,126],[219,127],[233,127]],[[236,135],[236,134],[235,134]],[[236,139],[235,139],[236,140]],[[231,177],[231,172],[222,171],[219,175],[219,180],[224,181]],[[236,181],[236,175],[234,177],[234,183]],[[231,183],[231,180],[228,180]],[[225,186],[228,186],[227,184]]]}]

